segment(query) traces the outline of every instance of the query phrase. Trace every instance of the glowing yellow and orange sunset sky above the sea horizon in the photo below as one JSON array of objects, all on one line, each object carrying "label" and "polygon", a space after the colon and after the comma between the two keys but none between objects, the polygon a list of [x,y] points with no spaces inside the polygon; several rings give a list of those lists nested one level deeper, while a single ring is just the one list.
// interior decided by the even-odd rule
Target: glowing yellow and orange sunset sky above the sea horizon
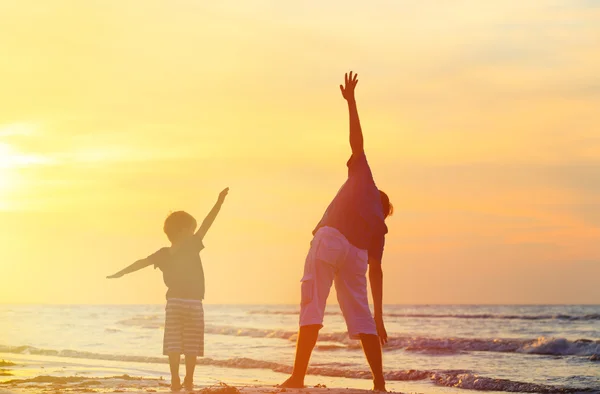
[{"label": "glowing yellow and orange sunset sky above the sea horizon", "polygon": [[598,303],[599,48],[595,0],[0,2],[0,302],[163,302],[105,276],[227,186],[206,302],[299,302],[352,69],[385,303]]}]

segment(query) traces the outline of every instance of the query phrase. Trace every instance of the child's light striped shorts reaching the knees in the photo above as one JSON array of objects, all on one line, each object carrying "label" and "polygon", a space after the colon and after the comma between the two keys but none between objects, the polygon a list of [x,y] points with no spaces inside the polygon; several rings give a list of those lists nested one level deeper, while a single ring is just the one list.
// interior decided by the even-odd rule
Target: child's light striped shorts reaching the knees
[{"label": "child's light striped shorts reaching the knees", "polygon": [[204,356],[204,308],[202,301],[167,300],[163,354]]}]

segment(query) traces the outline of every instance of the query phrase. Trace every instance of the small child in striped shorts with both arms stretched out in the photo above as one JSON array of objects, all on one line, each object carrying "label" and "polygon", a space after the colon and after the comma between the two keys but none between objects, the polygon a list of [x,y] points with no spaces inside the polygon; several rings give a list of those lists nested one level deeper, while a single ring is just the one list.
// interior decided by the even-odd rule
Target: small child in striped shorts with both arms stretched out
[{"label": "small child in striped shorts with both arms stretched out", "polygon": [[120,278],[149,265],[162,271],[168,287],[163,354],[169,356],[173,391],[182,387],[179,379],[181,355],[185,355],[183,387],[188,391],[194,389],[196,357],[204,356],[204,271],[199,253],[204,248],[202,240],[215,221],[228,192],[229,188],[226,188],[219,194],[217,203],[195,233],[196,219],[192,215],[183,211],[170,214],[165,220],[164,231],[171,246],[161,248],[107,277]]}]

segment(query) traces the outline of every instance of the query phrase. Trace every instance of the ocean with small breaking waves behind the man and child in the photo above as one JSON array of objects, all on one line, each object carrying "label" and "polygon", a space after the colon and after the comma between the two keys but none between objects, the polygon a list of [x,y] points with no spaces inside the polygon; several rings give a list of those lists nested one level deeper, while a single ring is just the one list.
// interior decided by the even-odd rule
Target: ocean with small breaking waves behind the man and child
[{"label": "ocean with small breaking waves behind the man and child", "polygon": [[[600,392],[600,305],[387,305],[388,389],[403,392]],[[296,305],[205,305],[199,385],[283,382]],[[169,378],[164,305],[0,305],[0,359],[33,377]],[[183,368],[182,368],[183,374]],[[306,383],[371,387],[358,341],[336,305]],[[0,376],[0,381],[11,376]]]}]

